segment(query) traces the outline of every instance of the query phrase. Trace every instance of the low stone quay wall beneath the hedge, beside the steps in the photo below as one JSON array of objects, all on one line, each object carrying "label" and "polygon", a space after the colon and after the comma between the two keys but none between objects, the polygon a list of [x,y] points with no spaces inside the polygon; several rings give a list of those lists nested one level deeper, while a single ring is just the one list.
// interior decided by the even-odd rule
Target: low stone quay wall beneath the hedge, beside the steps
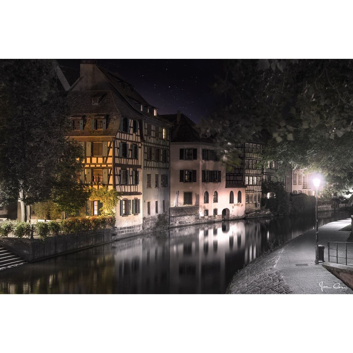
[{"label": "low stone quay wall beneath the hedge, beside the steps", "polygon": [[47,237],[44,241],[28,238],[0,238],[0,246],[3,245],[24,260],[31,262],[109,243],[115,239],[116,235],[112,229],[104,229],[96,232],[80,232],[79,235],[59,234]]}]

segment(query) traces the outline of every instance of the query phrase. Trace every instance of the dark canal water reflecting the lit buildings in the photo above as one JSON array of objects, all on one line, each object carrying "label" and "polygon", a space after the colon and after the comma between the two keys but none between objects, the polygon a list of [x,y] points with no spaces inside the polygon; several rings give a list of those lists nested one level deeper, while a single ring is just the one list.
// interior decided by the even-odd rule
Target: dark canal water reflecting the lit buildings
[{"label": "dark canal water reflecting the lit buildings", "polygon": [[[319,226],[350,215],[319,213]],[[0,293],[225,293],[245,264],[314,227],[315,214],[175,228],[0,270]]]}]

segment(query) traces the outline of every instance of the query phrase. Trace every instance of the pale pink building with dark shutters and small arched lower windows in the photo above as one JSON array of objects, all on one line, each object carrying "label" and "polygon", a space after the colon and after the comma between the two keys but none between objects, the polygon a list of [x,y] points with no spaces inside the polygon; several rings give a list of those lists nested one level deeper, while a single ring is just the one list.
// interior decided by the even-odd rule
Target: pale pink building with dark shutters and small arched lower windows
[{"label": "pale pink building with dark shutters and small arched lower windows", "polygon": [[184,114],[162,115],[173,124],[170,143],[170,207],[198,206],[200,222],[244,216],[245,186],[226,185],[226,166],[213,140],[201,136]]}]

